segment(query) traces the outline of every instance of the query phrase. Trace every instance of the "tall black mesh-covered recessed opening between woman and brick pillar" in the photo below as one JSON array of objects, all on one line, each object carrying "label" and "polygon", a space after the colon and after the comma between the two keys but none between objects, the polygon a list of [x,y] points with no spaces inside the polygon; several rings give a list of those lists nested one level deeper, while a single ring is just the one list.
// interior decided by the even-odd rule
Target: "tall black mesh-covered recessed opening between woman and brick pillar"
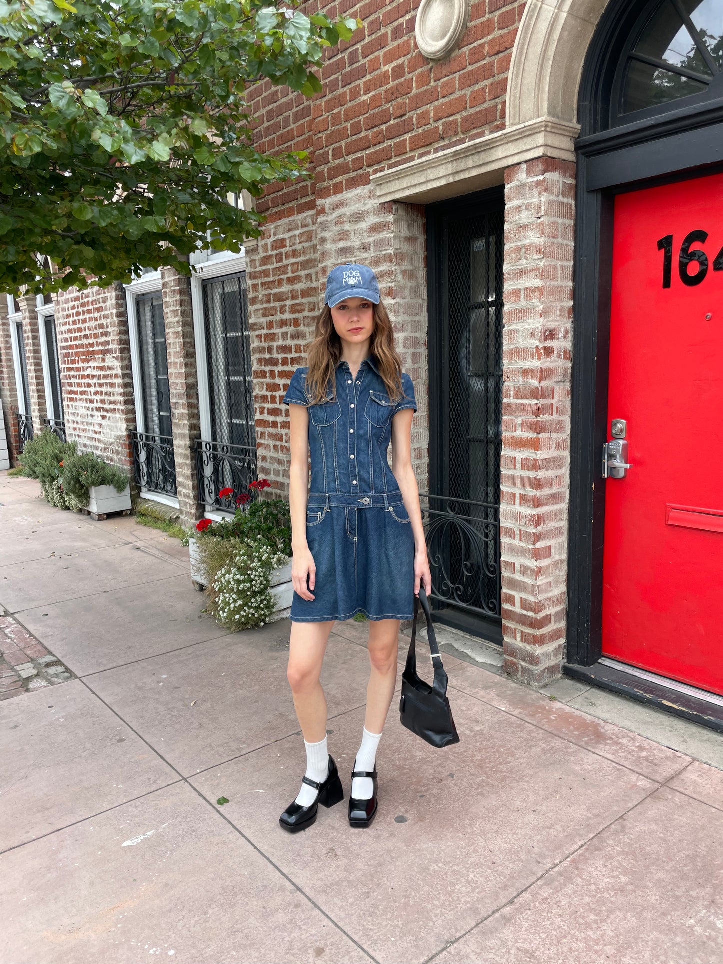
[{"label": "tall black mesh-covered recessed opening between woman and brick pillar", "polygon": [[431,205],[430,494],[437,618],[501,642],[501,192]]}]

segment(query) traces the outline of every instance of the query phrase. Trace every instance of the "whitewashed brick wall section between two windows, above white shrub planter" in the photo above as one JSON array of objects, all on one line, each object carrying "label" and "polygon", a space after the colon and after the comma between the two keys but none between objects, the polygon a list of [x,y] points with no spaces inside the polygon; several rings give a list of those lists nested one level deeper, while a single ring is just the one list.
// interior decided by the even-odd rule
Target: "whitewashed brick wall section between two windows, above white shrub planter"
[{"label": "whitewashed brick wall section between two windows, above white shrub planter", "polygon": [[136,414],[123,287],[71,288],[55,307],[67,439],[128,469]]}]

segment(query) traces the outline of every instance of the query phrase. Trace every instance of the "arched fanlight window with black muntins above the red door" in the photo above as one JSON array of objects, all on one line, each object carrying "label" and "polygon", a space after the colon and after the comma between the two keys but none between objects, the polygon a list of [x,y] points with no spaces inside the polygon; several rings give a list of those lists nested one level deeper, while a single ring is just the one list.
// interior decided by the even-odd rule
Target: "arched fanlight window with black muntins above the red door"
[{"label": "arched fanlight window with black muntins above the red door", "polygon": [[[664,0],[649,5],[618,67],[614,122],[695,96],[723,95],[723,0]],[[617,110],[615,110],[617,108]]]}]

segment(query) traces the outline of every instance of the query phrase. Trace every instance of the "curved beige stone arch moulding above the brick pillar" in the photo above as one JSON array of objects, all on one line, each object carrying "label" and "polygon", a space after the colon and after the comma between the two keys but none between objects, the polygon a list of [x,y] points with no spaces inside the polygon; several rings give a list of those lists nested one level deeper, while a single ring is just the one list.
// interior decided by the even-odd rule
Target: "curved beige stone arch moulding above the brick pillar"
[{"label": "curved beige stone arch moulding above the brick pillar", "polygon": [[577,91],[590,40],[610,0],[528,0],[512,52],[507,127],[577,120]]}]

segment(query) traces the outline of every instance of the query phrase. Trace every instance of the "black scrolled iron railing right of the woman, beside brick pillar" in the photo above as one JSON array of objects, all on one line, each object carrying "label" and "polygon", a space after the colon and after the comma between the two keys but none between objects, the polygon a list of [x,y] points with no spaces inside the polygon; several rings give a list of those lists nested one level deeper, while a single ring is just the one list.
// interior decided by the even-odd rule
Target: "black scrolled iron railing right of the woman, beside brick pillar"
[{"label": "black scrolled iron railing right of the woman, beside brick pillar", "polygon": [[499,506],[419,494],[433,602],[501,622]]}]

